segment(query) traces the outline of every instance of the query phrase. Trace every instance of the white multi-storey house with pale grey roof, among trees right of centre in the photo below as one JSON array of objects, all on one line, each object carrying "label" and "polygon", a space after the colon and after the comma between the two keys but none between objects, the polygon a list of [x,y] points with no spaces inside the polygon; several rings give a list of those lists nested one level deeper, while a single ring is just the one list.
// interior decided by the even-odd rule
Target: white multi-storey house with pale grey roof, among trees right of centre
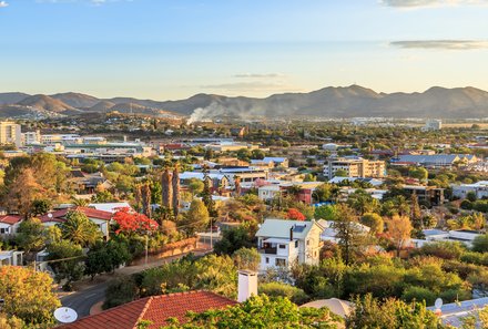
[{"label": "white multi-storey house with pale grey roof, among trees right of centre", "polygon": [[315,220],[266,219],[256,233],[260,270],[294,263],[318,264],[323,229]]}]

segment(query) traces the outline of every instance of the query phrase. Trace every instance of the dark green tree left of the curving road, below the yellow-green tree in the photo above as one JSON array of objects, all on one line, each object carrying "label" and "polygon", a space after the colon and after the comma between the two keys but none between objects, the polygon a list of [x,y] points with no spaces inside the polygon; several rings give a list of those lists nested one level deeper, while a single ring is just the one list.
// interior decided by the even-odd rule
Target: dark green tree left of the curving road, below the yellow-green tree
[{"label": "dark green tree left of the curving road, below the yellow-green tree", "polygon": [[81,246],[73,245],[69,240],[61,240],[48,246],[48,260],[55,274],[55,280],[61,282],[65,280],[63,289],[70,291],[72,281],[79,280],[83,277],[83,250]]}]

